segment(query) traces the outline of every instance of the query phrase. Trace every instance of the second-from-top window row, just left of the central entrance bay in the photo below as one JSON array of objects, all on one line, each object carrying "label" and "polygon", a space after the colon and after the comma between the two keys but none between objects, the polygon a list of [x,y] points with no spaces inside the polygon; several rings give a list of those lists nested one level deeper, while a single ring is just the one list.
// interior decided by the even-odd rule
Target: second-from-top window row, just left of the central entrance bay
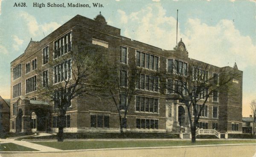
[{"label": "second-from-top window row, just left of the central entrance bay", "polygon": [[159,91],[159,78],[143,74],[137,74],[136,88],[141,90]]}]

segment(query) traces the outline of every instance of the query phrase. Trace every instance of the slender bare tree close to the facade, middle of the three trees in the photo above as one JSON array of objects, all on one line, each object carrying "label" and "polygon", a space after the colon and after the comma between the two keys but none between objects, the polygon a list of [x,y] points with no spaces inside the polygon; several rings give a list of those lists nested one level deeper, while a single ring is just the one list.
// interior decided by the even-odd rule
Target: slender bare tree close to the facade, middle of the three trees
[{"label": "slender bare tree close to the facade, middle of the three trees", "polygon": [[99,72],[99,80],[102,97],[111,97],[119,115],[120,133],[126,128],[126,115],[128,113],[131,99],[137,94],[136,84],[139,81],[138,73],[141,68],[136,66],[135,59],[129,64],[120,61],[108,61],[105,59]]}]

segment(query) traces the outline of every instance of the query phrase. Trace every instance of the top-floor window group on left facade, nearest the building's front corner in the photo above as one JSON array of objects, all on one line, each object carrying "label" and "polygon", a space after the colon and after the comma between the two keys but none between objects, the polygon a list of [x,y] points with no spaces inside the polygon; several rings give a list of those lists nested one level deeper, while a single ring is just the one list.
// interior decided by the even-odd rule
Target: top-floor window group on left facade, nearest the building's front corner
[{"label": "top-floor window group on left facade, nearest the building's front corner", "polygon": [[[71,51],[72,41],[71,32],[63,35],[61,38],[54,42],[54,58],[58,58],[61,55]],[[47,61],[48,62],[48,61]]]}]

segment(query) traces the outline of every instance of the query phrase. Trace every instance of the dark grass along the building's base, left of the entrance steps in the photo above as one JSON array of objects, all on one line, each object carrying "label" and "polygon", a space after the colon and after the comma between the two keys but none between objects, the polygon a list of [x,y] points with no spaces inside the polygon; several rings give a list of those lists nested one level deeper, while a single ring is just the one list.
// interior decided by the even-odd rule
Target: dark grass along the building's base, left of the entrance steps
[{"label": "dark grass along the building's base, left of the entrance steps", "polygon": [[[64,139],[177,139],[178,134],[166,133],[64,133]],[[57,135],[42,137],[24,137],[17,140],[38,140],[38,139],[57,139]]]}]

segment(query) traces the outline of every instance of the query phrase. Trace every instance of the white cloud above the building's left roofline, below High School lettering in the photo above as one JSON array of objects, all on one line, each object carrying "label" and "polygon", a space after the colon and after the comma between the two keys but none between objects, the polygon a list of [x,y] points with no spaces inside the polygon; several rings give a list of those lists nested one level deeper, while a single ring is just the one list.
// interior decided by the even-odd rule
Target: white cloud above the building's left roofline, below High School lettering
[{"label": "white cloud above the building's left roofline, below High School lettering", "polygon": [[22,11],[19,16],[22,17],[24,21],[26,21],[27,27],[29,29],[29,33],[33,37],[37,37],[38,35],[43,35],[43,33],[44,35],[47,35],[50,32],[57,29],[59,26],[61,26],[60,23],[56,23],[56,22],[39,24],[34,16],[24,11]]}]

